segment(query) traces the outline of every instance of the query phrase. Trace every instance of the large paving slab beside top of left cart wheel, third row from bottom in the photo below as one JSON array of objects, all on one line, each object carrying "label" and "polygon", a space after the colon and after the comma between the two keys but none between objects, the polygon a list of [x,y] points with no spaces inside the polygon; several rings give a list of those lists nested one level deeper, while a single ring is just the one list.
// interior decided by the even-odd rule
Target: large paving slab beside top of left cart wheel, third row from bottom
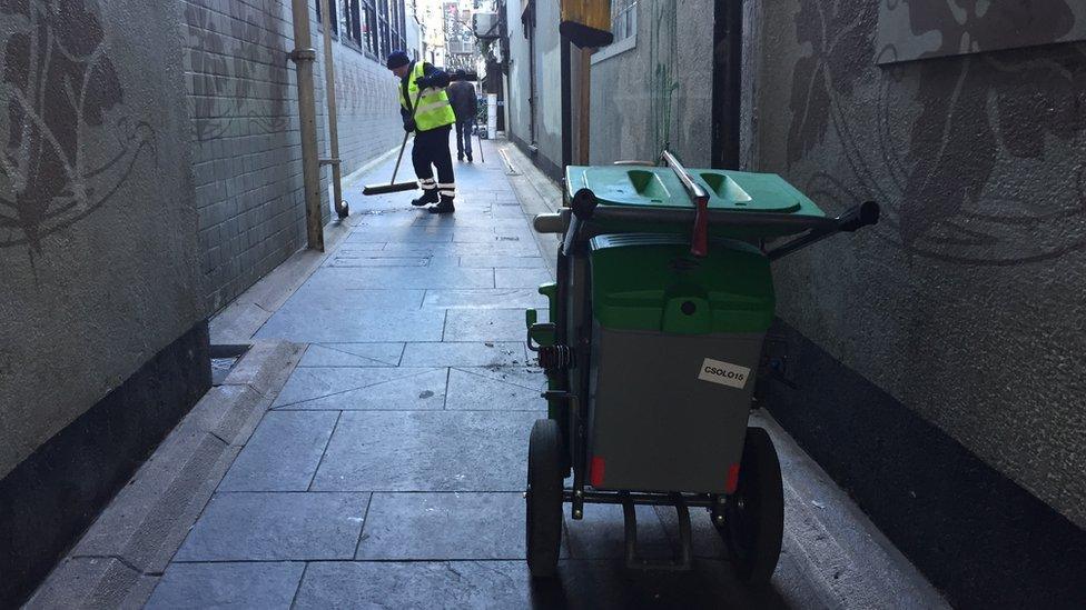
[{"label": "large paving slab beside top of left cart wheel, third row from bottom", "polygon": [[523,491],[534,412],[345,412],[313,489]]}]

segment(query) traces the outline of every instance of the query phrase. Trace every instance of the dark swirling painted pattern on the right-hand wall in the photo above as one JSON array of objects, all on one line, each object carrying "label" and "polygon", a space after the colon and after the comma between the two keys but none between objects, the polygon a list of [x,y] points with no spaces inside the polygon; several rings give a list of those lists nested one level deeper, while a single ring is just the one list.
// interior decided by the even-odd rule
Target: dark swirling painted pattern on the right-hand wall
[{"label": "dark swirling painted pattern on the right-hand wall", "polygon": [[[914,30],[941,23],[942,40],[990,30],[977,12],[956,20],[950,4],[946,19]],[[888,212],[880,234],[935,259],[1015,264],[1086,248],[1086,231],[1069,230],[1086,226],[1086,48],[879,68],[876,58],[891,51],[876,47],[878,14],[873,2],[809,0],[794,17],[798,41],[810,52],[794,64],[787,161],[802,163],[828,141],[842,157],[832,171],[820,163],[807,190],[835,201],[878,200]],[[869,94],[872,81],[877,98]],[[1038,82],[1044,87],[1029,84]],[[1077,166],[1046,187],[1075,197],[1020,186],[1043,182],[1028,173],[1050,167],[1046,152],[1055,147],[1079,151],[1060,157]]]}]

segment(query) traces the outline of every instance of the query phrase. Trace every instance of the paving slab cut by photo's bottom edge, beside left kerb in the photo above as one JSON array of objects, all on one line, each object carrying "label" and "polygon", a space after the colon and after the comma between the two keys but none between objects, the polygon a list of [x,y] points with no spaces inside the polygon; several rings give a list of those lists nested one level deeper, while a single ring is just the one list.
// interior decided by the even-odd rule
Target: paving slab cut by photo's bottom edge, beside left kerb
[{"label": "paving slab cut by photo's bottom edge, beside left kerb", "polygon": [[305,563],[174,563],[147,608],[288,609]]}]

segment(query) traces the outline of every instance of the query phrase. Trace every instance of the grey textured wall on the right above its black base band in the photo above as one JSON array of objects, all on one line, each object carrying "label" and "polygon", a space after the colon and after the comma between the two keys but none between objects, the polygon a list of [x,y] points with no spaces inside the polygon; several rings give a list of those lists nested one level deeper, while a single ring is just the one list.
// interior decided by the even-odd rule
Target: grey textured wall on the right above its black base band
[{"label": "grey textured wall on the right above its black base band", "polygon": [[879,66],[877,3],[761,4],[750,164],[886,212],[781,264],[780,316],[1086,526],[1086,46]]}]

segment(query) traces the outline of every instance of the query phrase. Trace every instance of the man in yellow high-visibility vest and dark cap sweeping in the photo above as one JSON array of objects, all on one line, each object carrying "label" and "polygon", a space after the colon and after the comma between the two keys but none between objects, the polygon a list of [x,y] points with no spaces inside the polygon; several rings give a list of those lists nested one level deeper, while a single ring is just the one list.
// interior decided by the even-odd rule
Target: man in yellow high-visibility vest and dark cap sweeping
[{"label": "man in yellow high-visibility vest and dark cap sweeping", "polygon": [[[411,160],[423,194],[411,204],[422,207],[436,203],[428,208],[431,212],[452,213],[455,210],[453,199],[456,197],[456,181],[453,157],[448,151],[448,134],[456,116],[445,92],[448,74],[430,63],[412,61],[404,51],[389,53],[386,66],[399,77],[399,112],[404,119],[404,131],[415,132]],[[416,100],[417,108],[414,107]]]}]

